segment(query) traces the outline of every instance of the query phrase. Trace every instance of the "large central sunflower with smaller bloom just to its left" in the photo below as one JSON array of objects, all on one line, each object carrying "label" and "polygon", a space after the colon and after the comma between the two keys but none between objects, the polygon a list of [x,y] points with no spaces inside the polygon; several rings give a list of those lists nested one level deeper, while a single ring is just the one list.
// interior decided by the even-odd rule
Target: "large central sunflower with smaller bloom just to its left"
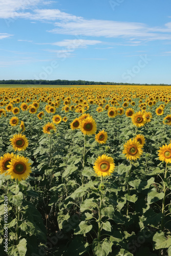
[{"label": "large central sunflower with smaller bloom just to its left", "polygon": [[87,117],[86,119],[83,119],[79,125],[79,128],[84,135],[95,134],[97,130],[96,122],[92,117]]}]

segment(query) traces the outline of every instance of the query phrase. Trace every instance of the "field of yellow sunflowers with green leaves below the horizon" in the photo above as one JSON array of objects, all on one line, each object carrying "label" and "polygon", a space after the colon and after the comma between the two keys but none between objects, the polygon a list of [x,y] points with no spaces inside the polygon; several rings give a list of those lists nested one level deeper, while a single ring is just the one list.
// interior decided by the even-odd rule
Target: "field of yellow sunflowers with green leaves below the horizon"
[{"label": "field of yellow sunflowers with green leaves below the horizon", "polygon": [[171,256],[169,87],[0,89],[0,255]]}]

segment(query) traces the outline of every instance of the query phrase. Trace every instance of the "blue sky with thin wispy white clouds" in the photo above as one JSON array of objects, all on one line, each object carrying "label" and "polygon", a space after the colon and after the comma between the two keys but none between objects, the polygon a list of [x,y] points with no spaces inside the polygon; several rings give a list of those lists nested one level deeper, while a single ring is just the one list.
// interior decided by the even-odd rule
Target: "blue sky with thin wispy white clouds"
[{"label": "blue sky with thin wispy white clouds", "polygon": [[0,0],[0,79],[171,84],[170,0]]}]

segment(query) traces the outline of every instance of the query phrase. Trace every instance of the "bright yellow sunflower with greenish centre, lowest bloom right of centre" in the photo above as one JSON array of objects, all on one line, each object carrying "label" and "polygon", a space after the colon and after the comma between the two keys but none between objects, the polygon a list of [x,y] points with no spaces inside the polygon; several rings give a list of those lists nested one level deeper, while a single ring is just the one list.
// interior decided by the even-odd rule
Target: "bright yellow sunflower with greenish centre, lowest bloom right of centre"
[{"label": "bright yellow sunflower with greenish centre, lowest bloom right of centre", "polygon": [[114,160],[103,154],[96,159],[93,168],[98,176],[110,176],[115,168]]}]

